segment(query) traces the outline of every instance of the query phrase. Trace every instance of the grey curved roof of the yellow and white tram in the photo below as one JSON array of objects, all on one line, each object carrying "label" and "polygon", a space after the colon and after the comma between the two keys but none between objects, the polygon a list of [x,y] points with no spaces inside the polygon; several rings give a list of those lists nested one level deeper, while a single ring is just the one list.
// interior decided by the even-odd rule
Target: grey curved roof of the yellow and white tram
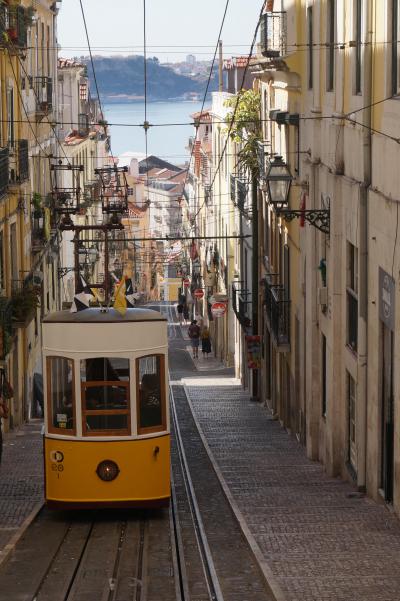
[{"label": "grey curved roof of the yellow and white tram", "polygon": [[43,323],[126,323],[140,321],[167,321],[164,315],[152,309],[127,309],[121,315],[115,309],[102,310],[100,307],[84,309],[77,313],[70,311],[55,311],[43,318]]}]

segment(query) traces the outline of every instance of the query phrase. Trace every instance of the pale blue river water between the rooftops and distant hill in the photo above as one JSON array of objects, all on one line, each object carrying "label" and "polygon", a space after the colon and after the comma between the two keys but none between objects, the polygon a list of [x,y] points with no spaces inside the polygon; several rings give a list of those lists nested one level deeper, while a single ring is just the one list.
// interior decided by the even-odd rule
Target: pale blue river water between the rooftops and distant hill
[{"label": "pale blue river water between the rooftops and distant hill", "polygon": [[[207,108],[209,103],[205,105]],[[144,102],[103,104],[105,119],[110,123],[111,148],[115,156],[124,152],[145,153],[143,127],[131,125],[144,122]],[[151,124],[173,124],[150,127],[148,130],[148,153],[171,163],[183,164],[188,160],[188,139],[194,133],[190,117],[201,109],[201,102],[149,102],[147,121]],[[123,125],[116,125],[123,124]],[[183,125],[182,125],[183,124]]]}]

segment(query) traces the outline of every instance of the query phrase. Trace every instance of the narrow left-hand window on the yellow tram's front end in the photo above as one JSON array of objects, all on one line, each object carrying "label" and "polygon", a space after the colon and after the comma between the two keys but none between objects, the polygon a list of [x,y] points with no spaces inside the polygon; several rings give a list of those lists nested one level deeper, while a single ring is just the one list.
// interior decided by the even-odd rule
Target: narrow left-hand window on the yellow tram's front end
[{"label": "narrow left-hand window on the yellow tram's front end", "polygon": [[75,431],[74,364],[65,357],[47,359],[49,430]]}]

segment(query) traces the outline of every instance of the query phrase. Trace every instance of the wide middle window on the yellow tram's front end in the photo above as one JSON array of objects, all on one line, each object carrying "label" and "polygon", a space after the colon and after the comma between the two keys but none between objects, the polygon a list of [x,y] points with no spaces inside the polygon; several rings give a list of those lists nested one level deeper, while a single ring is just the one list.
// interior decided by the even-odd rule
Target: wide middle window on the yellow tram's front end
[{"label": "wide middle window on the yellow tram's front end", "polygon": [[130,433],[129,359],[81,361],[82,430],[86,436]]}]

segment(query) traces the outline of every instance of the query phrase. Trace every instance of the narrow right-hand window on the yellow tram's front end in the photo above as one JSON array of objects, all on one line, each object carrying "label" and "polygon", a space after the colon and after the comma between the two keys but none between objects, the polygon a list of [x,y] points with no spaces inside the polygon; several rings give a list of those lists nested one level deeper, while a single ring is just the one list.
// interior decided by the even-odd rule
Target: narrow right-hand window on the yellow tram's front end
[{"label": "narrow right-hand window on the yellow tram's front end", "polygon": [[138,430],[163,430],[165,423],[164,357],[137,360]]}]

